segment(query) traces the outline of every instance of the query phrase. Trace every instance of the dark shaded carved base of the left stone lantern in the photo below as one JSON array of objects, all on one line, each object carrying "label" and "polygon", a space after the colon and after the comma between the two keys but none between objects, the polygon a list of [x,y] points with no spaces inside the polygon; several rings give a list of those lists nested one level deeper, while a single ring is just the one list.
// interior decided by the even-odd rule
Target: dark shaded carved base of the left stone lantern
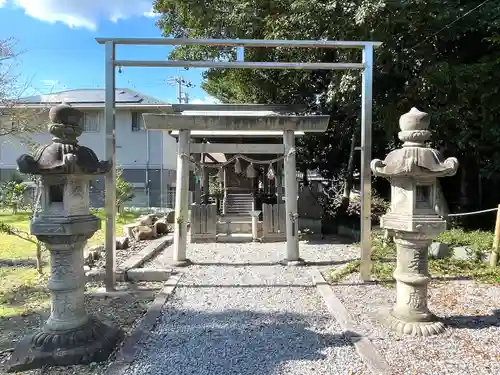
[{"label": "dark shaded carved base of the left stone lantern", "polygon": [[28,371],[44,366],[71,366],[105,361],[122,339],[122,331],[95,317],[72,331],[42,329],[25,337],[12,353],[7,371]]}]

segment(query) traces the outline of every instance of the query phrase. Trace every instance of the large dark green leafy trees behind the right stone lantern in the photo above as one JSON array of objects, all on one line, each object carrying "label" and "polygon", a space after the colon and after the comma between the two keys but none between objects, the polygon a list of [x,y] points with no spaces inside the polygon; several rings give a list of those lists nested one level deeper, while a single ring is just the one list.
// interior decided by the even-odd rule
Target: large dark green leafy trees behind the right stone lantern
[{"label": "large dark green leafy trees behind the right stone lantern", "polygon": [[[500,179],[500,7],[484,0],[156,0],[165,36],[376,40],[374,157],[398,144],[412,106],[432,115],[434,143],[459,157],[462,181]],[[248,61],[360,61],[359,51],[247,49]],[[183,46],[176,59],[234,59],[231,48]],[[328,177],[347,168],[359,132],[359,72],[209,69],[203,88],[223,102],[302,103],[329,114],[325,134],[304,137],[299,160]],[[359,139],[359,135],[358,135]],[[497,177],[498,176],[498,177]],[[498,191],[498,186],[495,190]],[[463,192],[462,192],[463,193]],[[463,195],[463,194],[462,194]],[[470,195],[470,192],[469,192]],[[500,198],[498,193],[495,198]]]}]

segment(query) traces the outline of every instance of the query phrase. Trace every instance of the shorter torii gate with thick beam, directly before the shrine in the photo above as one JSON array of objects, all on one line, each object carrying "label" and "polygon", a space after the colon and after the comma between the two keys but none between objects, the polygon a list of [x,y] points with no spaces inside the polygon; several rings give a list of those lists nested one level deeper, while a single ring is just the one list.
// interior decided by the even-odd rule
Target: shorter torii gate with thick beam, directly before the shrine
[{"label": "shorter torii gate with thick beam, directly before the shrine", "polygon": [[[216,107],[216,106],[214,106]],[[177,178],[175,198],[174,265],[190,264],[186,254],[188,189],[191,131],[280,131],[283,132],[286,209],[286,257],[288,265],[302,263],[299,253],[297,219],[297,182],[295,160],[295,132],[324,132],[329,116],[277,115],[183,115],[143,114],[148,130],[178,131]]]}]

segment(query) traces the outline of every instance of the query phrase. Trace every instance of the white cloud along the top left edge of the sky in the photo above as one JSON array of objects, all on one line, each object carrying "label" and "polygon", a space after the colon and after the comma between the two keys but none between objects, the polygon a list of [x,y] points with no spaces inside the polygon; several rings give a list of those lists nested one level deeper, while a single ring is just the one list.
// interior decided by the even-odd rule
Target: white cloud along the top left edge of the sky
[{"label": "white cloud along the top left edge of the sky", "polygon": [[101,19],[116,22],[134,16],[156,16],[151,0],[0,0],[0,8],[7,3],[41,21],[62,22],[71,28],[93,31]]}]

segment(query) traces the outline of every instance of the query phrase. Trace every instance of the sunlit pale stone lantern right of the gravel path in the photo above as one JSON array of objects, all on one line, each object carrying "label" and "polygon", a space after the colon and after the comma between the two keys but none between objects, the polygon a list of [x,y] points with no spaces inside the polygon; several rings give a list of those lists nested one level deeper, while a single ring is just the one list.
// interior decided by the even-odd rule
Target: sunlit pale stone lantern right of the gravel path
[{"label": "sunlit pale stone lantern right of the gravel path", "polygon": [[446,221],[436,214],[437,178],[452,176],[456,158],[443,160],[426,146],[431,132],[427,113],[412,108],[399,119],[402,148],[384,161],[373,160],[375,176],[391,183],[391,208],[381,226],[394,237],[397,247],[396,304],[388,315],[389,325],[401,334],[429,336],[444,331],[444,325],[427,307],[428,246],[446,230]]}]

